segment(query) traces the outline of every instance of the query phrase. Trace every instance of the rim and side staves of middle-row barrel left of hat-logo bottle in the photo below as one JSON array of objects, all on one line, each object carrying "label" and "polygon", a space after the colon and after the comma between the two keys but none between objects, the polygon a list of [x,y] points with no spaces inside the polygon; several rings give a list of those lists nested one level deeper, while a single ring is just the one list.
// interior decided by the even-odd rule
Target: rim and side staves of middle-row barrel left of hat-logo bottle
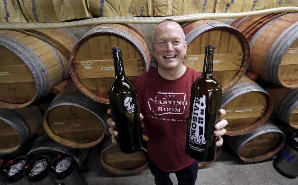
[{"label": "rim and side staves of middle-row barrel left of hat-logo bottle", "polygon": [[[68,83],[64,90],[67,88],[67,86],[74,85],[73,82]],[[78,142],[73,142],[66,140],[58,135],[56,135],[48,126],[47,124],[47,119],[48,115],[51,112],[52,109],[58,107],[58,106],[63,106],[63,105],[70,105],[70,106],[77,106],[81,107],[85,110],[90,111],[94,115],[97,116],[97,118],[102,122],[104,131],[103,134],[100,138],[93,142],[88,142],[88,143],[78,143]],[[95,102],[91,100],[90,98],[86,97],[84,94],[82,94],[78,89],[75,92],[66,92],[64,93],[63,91],[57,95],[54,100],[51,102],[49,105],[43,119],[43,128],[45,129],[46,133],[56,142],[68,146],[68,147],[74,147],[74,148],[88,148],[88,147],[93,147],[99,142],[102,141],[102,139],[105,136],[106,131],[108,130],[108,125],[107,125],[107,119],[108,116],[105,114],[105,112],[100,108],[100,104],[98,102]]]}]

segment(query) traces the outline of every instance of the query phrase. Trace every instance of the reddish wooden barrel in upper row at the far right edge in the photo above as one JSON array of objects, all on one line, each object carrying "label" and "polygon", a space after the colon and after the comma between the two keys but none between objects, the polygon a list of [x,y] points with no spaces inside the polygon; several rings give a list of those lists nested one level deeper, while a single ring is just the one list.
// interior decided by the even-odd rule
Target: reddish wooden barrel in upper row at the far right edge
[{"label": "reddish wooden barrel in upper row at the far right edge", "polygon": [[249,40],[249,69],[268,82],[298,88],[298,13],[238,18],[231,23]]}]

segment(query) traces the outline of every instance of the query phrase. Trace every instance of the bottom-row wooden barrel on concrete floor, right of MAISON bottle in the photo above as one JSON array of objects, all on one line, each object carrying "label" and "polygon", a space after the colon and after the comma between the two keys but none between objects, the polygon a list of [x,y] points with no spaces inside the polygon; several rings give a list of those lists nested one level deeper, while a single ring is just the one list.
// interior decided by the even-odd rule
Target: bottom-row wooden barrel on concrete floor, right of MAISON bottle
[{"label": "bottom-row wooden barrel on concrete floor, right of MAISON bottle", "polygon": [[225,136],[224,141],[241,160],[259,162],[280,151],[286,143],[286,137],[272,121],[267,120],[250,133],[241,136]]}]

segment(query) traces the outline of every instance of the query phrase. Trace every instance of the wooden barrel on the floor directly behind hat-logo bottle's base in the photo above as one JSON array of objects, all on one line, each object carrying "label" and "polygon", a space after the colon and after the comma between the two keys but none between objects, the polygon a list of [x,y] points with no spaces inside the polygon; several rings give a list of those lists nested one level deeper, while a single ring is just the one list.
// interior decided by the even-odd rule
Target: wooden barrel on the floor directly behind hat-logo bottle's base
[{"label": "wooden barrel on the floor directly behind hat-logo bottle's base", "polygon": [[114,174],[135,174],[148,165],[146,149],[142,148],[132,154],[122,154],[117,145],[111,143],[111,139],[102,145],[100,161],[105,169]]}]

